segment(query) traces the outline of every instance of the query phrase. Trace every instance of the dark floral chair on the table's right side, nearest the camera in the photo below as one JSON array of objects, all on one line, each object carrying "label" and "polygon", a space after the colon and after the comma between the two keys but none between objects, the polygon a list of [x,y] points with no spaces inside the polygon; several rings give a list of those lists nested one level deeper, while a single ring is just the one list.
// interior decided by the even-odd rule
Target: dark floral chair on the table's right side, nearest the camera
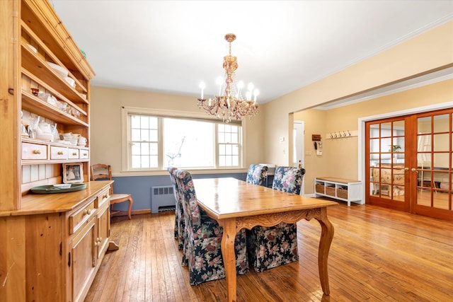
[{"label": "dark floral chair on the table's right side, nearest the camera", "polygon": [[[304,168],[277,167],[273,189],[299,194]],[[256,272],[263,272],[299,260],[296,223],[279,223],[277,226],[256,226],[248,232],[248,260]]]}]

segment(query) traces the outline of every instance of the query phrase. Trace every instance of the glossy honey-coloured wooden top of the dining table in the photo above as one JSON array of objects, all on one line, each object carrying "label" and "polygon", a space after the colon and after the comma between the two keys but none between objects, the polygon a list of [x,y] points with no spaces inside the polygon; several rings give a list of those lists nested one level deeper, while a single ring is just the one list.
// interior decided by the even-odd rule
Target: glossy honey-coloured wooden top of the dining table
[{"label": "glossy honey-coloured wooden top of the dining table", "polygon": [[323,199],[251,185],[236,178],[194,179],[198,204],[216,219],[273,214],[337,205]]}]

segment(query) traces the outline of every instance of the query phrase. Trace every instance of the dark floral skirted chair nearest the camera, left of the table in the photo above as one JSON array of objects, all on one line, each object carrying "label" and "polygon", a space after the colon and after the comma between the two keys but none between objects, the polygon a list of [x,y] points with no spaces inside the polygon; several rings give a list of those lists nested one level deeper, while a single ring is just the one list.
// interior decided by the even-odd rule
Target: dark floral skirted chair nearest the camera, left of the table
[{"label": "dark floral skirted chair nearest the camera, left of the table", "polygon": [[[190,285],[225,277],[222,258],[223,228],[198,207],[192,175],[185,170],[173,170],[180,194],[183,197],[185,240],[183,265],[189,267]],[[248,272],[246,231],[236,234],[236,273]]]}]

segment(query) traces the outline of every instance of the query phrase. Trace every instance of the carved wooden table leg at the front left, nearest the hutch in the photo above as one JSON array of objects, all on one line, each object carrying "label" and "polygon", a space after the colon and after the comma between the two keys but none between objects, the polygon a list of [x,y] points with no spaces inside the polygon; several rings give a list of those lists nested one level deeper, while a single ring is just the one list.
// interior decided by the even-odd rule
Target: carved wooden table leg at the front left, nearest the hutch
[{"label": "carved wooden table leg at the front left, nearest the hutch", "polygon": [[236,219],[222,221],[222,257],[224,259],[226,277],[226,298],[229,302],[236,301],[236,257],[234,255],[234,239],[236,238]]}]

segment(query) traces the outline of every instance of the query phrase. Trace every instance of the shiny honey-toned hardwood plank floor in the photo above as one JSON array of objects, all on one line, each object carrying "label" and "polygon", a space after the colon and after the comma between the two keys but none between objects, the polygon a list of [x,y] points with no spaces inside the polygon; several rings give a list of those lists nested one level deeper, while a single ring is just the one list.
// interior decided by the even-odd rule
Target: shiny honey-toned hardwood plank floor
[{"label": "shiny honey-toned hardwood plank floor", "polygon": [[[328,208],[335,227],[330,296],[318,274],[321,227],[299,221],[299,262],[238,276],[238,301],[451,301],[453,223],[369,205]],[[188,283],[174,212],[114,217],[112,240],[85,301],[225,301],[225,279]]]}]

